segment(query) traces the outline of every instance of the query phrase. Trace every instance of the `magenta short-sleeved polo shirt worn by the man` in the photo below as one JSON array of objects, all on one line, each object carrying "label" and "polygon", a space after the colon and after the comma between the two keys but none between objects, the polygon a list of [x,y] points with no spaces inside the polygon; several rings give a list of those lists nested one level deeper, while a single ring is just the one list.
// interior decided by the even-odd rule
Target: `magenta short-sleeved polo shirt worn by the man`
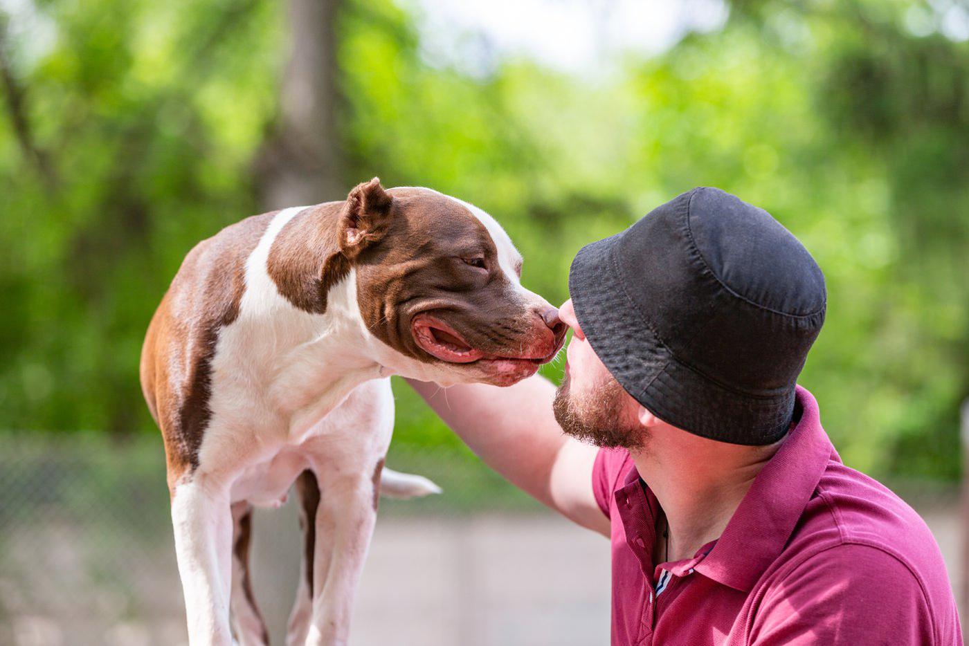
[{"label": "magenta short-sleeved polo shirt worn by the man", "polygon": [[655,568],[656,497],[628,451],[599,451],[592,484],[612,525],[613,646],[962,644],[922,518],[841,463],[799,386],[797,415],[723,535]]}]

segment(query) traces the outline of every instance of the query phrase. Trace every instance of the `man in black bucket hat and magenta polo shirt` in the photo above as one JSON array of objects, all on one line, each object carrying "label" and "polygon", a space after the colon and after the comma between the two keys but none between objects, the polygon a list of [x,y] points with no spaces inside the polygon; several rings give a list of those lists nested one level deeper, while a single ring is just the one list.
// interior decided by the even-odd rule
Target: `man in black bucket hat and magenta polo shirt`
[{"label": "man in black bucket hat and magenta polo shirt", "polygon": [[797,238],[700,188],[583,248],[569,290],[557,391],[413,385],[491,467],[611,538],[612,644],[962,643],[928,528],[841,463],[796,385],[826,306]]}]

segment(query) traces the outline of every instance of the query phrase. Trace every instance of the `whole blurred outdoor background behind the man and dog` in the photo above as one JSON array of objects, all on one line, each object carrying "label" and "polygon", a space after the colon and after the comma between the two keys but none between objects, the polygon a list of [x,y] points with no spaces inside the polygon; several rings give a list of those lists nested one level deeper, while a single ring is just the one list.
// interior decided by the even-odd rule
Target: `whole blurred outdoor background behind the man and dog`
[{"label": "whole blurred outdoor background behind the man and dog", "polygon": [[[828,279],[801,384],[961,595],[965,2],[0,0],[0,87],[0,644],[185,642],[144,330],[200,239],[373,175],[485,208],[552,302],[694,186],[765,207]],[[354,643],[607,643],[608,542],[394,388],[388,463],[445,494],[381,508]],[[255,524],[278,643],[296,512]]]}]

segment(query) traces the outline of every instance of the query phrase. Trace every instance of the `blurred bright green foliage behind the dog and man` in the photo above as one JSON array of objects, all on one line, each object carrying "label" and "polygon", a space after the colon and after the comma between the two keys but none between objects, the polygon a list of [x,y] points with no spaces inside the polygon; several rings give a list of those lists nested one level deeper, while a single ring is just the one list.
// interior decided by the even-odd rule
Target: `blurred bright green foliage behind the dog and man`
[{"label": "blurred bright green foliage behind the dog and man", "polygon": [[[30,141],[0,119],[0,428],[153,428],[142,335],[195,242],[259,210],[283,11],[36,0],[32,30],[11,21]],[[953,479],[969,395],[969,45],[913,35],[932,11],[737,1],[723,29],[591,82],[527,60],[484,77],[429,64],[414,15],[353,0],[337,29],[341,179],[477,203],[552,301],[582,244],[694,186],[764,206],[828,278],[801,383],[842,457]],[[459,444],[395,386],[397,442]]]}]

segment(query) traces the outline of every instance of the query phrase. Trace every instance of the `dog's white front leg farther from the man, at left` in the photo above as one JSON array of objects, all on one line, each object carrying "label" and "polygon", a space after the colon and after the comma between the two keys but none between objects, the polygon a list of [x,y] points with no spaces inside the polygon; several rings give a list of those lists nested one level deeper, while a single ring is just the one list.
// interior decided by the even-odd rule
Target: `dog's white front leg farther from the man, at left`
[{"label": "dog's white front leg farther from the man, at left", "polygon": [[231,646],[233,517],[228,485],[200,473],[177,485],[172,492],[172,525],[189,643]]}]

